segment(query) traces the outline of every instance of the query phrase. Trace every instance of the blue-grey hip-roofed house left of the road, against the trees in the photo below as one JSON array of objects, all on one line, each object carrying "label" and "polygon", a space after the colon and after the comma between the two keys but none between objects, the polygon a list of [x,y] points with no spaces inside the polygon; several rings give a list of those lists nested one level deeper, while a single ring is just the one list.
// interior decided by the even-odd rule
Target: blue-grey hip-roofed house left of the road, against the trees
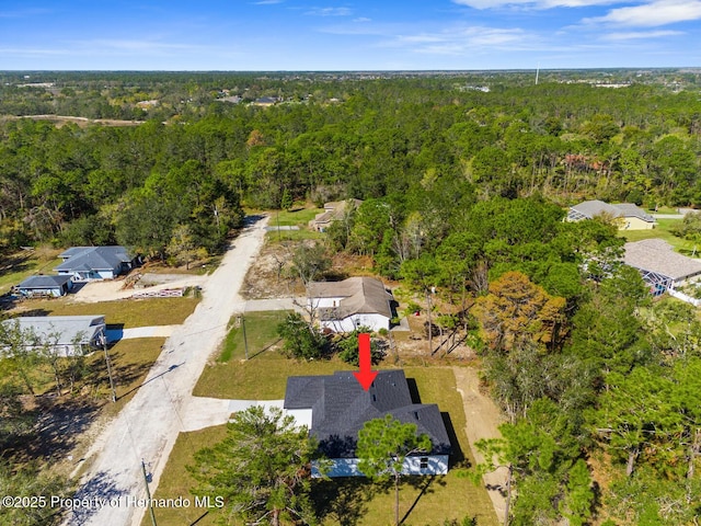
[{"label": "blue-grey hip-roofed house left of the road, against the trees", "polygon": [[124,247],[72,247],[59,254],[64,262],[54,268],[74,282],[113,279],[129,272],[137,259]]}]

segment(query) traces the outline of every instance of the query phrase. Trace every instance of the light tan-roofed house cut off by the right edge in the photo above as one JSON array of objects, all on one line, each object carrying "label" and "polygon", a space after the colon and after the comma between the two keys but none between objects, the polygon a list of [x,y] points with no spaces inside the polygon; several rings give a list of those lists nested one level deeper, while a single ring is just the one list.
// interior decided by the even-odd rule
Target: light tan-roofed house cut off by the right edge
[{"label": "light tan-roofed house cut off by the right edge", "polygon": [[701,278],[701,261],[674,251],[662,239],[625,243],[623,263],[637,268],[655,296]]}]

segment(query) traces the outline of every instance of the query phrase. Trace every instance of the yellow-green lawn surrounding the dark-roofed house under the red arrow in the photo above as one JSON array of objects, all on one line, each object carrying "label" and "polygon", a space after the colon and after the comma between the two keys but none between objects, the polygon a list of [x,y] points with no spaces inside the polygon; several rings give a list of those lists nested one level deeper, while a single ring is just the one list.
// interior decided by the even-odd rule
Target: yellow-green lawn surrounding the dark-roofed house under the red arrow
[{"label": "yellow-green lawn surrounding the dark-roofed house under the red arrow", "polygon": [[[246,315],[246,336],[250,359],[244,359],[243,335],[234,328],[222,347],[219,359],[209,364],[195,388],[195,396],[249,400],[281,399],[288,376],[325,375],[349,369],[337,358],[318,362],[297,362],[285,358],[276,350],[274,327],[280,313],[252,312]],[[387,368],[388,365],[381,366]],[[444,519],[476,517],[480,525],[496,525],[492,502],[483,488],[475,487],[466,470],[473,464],[466,436],[463,401],[456,388],[456,377],[448,367],[405,367],[407,378],[416,382],[424,403],[438,403],[444,413],[456,454],[447,476],[411,478],[400,491],[400,513],[403,524],[443,525]],[[171,453],[154,498],[188,498],[193,481],[185,466],[195,451],[223,437],[225,426],[181,433]],[[377,525],[392,521],[393,493],[381,484],[361,479],[335,479],[314,483],[314,504],[323,524]],[[215,524],[215,511],[203,508],[157,510],[163,524]],[[150,524],[145,517],[143,526]]]}]

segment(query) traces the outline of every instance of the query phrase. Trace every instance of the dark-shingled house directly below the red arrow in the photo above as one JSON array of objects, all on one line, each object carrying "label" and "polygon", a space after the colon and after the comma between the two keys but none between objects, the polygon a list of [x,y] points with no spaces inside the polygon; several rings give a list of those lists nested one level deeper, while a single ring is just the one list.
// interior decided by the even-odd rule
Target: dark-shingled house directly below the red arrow
[{"label": "dark-shingled house directly below the red arrow", "polygon": [[[320,451],[331,460],[329,477],[358,477],[356,447],[358,432],[374,419],[391,414],[402,423],[416,424],[426,434],[430,451],[409,456],[405,474],[445,474],[448,472],[450,439],[438,405],[413,403],[404,371],[380,370],[365,391],[350,371],[329,376],[290,376],[285,404],[287,414],[319,442]],[[320,473],[312,466],[312,476]]]}]

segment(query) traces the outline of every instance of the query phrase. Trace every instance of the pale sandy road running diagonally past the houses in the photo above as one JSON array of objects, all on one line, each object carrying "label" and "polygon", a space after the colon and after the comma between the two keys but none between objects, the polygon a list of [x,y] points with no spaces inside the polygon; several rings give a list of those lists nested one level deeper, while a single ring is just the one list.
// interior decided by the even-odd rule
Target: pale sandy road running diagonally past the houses
[{"label": "pale sandy road running diagonally past the houses", "polygon": [[[146,507],[141,461],[150,489],[158,485],[177,434],[186,428],[192,390],[207,359],[226,335],[230,317],[243,310],[239,296],[243,277],[263,245],[267,219],[251,220],[233,241],[220,266],[203,284],[203,300],[176,328],[137,395],[97,437],[85,462],[76,507],[67,524],[138,526]],[[188,495],[183,495],[188,496]]]}]

